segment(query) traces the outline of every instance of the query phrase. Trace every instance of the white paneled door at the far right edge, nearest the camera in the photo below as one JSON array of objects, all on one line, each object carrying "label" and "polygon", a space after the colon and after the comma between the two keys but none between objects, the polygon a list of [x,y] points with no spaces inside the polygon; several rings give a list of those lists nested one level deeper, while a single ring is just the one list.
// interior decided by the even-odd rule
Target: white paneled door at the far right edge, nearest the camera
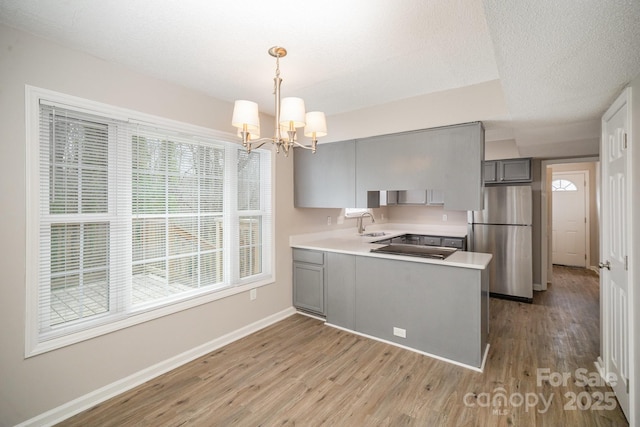
[{"label": "white paneled door at the far right edge, nearest the camera", "polygon": [[602,250],[600,304],[602,307],[603,363],[620,407],[629,417],[629,276],[627,193],[627,131],[629,89],[602,118]]}]

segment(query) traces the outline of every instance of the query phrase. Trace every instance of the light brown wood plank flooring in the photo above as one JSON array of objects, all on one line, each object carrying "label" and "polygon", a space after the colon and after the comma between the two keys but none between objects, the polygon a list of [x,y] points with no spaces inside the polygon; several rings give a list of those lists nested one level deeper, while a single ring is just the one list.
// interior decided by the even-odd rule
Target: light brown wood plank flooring
[{"label": "light brown wood plank flooring", "polygon": [[554,267],[533,304],[492,298],[483,373],[295,315],[59,425],[626,426],[575,372],[595,375],[598,292],[593,272]]}]

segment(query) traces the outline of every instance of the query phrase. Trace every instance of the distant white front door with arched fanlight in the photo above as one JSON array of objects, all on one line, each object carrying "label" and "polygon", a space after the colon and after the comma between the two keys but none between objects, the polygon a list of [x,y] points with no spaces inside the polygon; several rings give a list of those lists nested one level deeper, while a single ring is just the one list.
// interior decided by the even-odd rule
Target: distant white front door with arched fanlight
[{"label": "distant white front door with arched fanlight", "polygon": [[554,264],[587,266],[586,183],[586,172],[553,174],[551,239]]}]

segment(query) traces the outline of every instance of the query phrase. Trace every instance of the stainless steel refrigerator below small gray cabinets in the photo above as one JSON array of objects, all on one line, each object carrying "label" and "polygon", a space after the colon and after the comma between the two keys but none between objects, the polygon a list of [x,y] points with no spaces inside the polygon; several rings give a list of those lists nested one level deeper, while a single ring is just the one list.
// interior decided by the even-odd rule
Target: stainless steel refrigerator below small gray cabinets
[{"label": "stainless steel refrigerator below small gray cabinets", "polygon": [[531,187],[484,189],[484,210],[469,212],[469,250],[493,254],[491,295],[533,299]]}]

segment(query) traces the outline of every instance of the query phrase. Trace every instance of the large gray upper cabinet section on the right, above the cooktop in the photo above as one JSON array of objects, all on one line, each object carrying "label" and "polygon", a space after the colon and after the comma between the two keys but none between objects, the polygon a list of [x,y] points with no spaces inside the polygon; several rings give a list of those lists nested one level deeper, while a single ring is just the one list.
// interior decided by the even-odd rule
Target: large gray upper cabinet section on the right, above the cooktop
[{"label": "large gray upper cabinet section on the right, above the cooktop", "polygon": [[482,123],[356,140],[356,206],[368,191],[441,189],[445,208],[482,209]]}]

